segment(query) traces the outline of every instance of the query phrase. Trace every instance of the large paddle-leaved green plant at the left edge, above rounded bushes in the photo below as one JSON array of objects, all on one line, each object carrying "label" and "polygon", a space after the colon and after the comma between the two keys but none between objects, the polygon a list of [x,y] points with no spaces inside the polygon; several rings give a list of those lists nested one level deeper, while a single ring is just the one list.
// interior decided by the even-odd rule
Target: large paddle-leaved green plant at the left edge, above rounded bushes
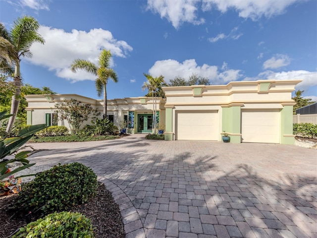
[{"label": "large paddle-leaved green plant at the left edge, above rounded bushes", "polygon": [[[11,115],[6,115],[6,112],[0,113],[0,121],[2,119],[6,119],[10,117]],[[17,152],[18,149],[24,145],[31,137],[39,130],[42,130],[46,127],[46,124],[39,124],[39,125],[32,125],[28,128],[24,128],[19,131],[18,135],[16,137],[2,137],[0,138],[0,159],[5,158],[8,155],[14,154],[14,158],[10,160],[2,160],[0,161],[0,181],[4,178],[7,178],[21,170],[24,170],[26,168],[29,168],[35,164],[29,164],[29,161],[25,158],[28,157],[28,154],[30,151],[22,151]],[[13,162],[21,162],[23,166],[13,170],[10,173],[5,174],[8,163]],[[4,184],[0,182],[0,186],[3,186]]]}]

